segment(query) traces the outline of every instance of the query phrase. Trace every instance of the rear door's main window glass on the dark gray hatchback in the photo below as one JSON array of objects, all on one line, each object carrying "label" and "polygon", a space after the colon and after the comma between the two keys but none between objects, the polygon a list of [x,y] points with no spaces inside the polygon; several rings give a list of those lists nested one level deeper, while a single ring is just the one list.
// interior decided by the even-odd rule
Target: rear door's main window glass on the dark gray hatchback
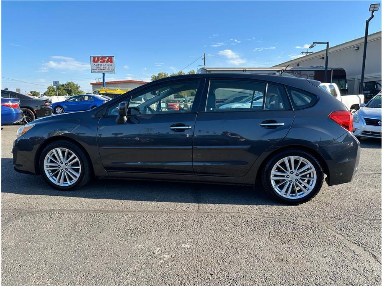
[{"label": "rear door's main window glass on the dark gray hatchback", "polygon": [[211,80],[206,111],[252,108],[262,110],[265,83]]}]

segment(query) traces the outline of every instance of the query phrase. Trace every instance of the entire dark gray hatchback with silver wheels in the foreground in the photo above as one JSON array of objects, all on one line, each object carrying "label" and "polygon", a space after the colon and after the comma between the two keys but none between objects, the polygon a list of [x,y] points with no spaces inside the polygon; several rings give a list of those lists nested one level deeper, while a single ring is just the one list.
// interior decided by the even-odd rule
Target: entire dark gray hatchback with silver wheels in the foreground
[{"label": "entire dark gray hatchback with silver wheels in the foreground", "polygon": [[[53,115],[18,130],[16,171],[58,190],[93,176],[254,185],[301,203],[350,182],[359,160],[346,107],[319,81],[273,75],[196,74],[157,80],[95,109]],[[231,96],[250,102],[217,107]],[[166,99],[194,97],[191,109]],[[129,102],[144,98],[138,106]]]}]

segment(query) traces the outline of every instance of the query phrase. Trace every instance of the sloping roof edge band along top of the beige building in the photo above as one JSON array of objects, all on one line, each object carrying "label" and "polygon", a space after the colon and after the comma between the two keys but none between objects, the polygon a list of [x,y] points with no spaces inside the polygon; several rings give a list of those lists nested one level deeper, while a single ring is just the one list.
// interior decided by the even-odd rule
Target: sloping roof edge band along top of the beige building
[{"label": "sloping roof edge band along top of the beige building", "polygon": [[[340,50],[347,49],[347,48],[350,48],[353,46],[361,45],[364,43],[364,39],[365,39],[365,37],[360,37],[358,39],[354,39],[354,40],[339,44],[337,46],[329,47],[329,54],[333,53],[333,52],[338,52]],[[381,31],[370,34],[367,36],[367,42],[372,42],[372,41],[375,41],[377,39],[381,39]],[[293,65],[295,63],[301,63],[301,62],[304,62],[306,60],[315,59],[315,58],[321,57],[322,55],[325,55],[325,54],[326,54],[326,49],[319,50],[318,52],[314,52],[310,55],[304,55],[303,57],[299,57],[299,58],[296,58],[293,60],[288,60],[287,62],[279,63],[277,65],[274,65],[273,67],[274,68],[286,67],[287,65]]]}]

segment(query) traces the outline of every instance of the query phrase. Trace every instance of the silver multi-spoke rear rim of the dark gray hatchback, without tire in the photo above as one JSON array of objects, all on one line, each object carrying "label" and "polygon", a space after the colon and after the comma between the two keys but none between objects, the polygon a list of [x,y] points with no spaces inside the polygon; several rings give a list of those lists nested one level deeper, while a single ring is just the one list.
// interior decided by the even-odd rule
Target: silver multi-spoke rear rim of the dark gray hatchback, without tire
[{"label": "silver multi-spoke rear rim of the dark gray hatchback, without tire", "polygon": [[278,195],[288,199],[303,198],[316,185],[316,169],[309,160],[299,156],[287,156],[272,168],[270,181]]}]

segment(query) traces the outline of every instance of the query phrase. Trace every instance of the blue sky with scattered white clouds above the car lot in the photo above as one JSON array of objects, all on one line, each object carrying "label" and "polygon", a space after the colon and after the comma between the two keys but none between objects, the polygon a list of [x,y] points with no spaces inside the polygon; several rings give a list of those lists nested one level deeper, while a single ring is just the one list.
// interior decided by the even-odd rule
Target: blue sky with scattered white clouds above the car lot
[{"label": "blue sky with scattered white clouds above the car lot", "polygon": [[[203,53],[208,67],[270,67],[313,41],[362,37],[371,3],[378,2],[2,1],[2,88],[44,92],[53,80],[71,80],[87,92],[102,78],[90,72],[90,55],[115,56],[107,81],[149,80]],[[380,15],[369,34],[381,30]]]}]

